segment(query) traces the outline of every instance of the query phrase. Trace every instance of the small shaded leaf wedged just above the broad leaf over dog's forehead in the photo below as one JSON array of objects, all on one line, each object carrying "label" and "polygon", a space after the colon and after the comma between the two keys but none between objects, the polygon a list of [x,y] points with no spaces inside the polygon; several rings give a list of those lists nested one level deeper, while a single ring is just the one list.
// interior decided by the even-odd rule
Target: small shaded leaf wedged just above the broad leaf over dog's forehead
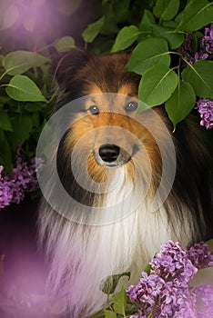
[{"label": "small shaded leaf wedged just above the broad leaf over dog's forehead", "polygon": [[152,26],[152,35],[164,37],[171,49],[176,49],[184,42],[184,35],[178,33],[174,28],[169,28],[162,25],[153,25]]}]

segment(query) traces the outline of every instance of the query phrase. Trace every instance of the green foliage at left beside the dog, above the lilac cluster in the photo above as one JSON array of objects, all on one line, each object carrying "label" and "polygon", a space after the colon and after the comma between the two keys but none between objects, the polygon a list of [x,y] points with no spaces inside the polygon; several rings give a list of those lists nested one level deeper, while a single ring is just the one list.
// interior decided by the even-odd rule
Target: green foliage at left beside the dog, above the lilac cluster
[{"label": "green foliage at left beside the dog, above the lilac cluster", "polygon": [[[75,42],[71,36],[56,39],[58,52]],[[0,164],[12,173],[19,146],[27,158],[35,155],[39,133],[52,108],[52,76],[47,54],[15,50],[1,56],[0,65]]]}]

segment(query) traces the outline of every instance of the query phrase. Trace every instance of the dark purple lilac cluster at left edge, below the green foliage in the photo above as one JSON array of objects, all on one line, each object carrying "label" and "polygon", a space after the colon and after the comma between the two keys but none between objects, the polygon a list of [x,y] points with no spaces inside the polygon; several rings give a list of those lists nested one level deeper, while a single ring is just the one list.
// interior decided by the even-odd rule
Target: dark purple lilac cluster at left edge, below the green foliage
[{"label": "dark purple lilac cluster at left edge, below the green foliage", "polygon": [[[42,164],[42,162],[41,162]],[[37,187],[35,158],[25,163],[20,151],[17,152],[13,175],[7,174],[0,165],[0,209],[12,203],[19,204],[25,192],[34,191]]]}]

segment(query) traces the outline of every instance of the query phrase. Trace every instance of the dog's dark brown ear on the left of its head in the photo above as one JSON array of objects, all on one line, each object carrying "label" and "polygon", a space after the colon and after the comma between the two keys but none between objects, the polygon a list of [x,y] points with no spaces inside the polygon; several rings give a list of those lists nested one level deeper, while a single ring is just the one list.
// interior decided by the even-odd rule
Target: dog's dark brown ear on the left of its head
[{"label": "dog's dark brown ear on the left of its head", "polygon": [[52,73],[54,74],[56,84],[59,88],[64,89],[67,82],[74,78],[76,73],[86,65],[89,55],[81,49],[72,49],[60,54],[53,54]]}]

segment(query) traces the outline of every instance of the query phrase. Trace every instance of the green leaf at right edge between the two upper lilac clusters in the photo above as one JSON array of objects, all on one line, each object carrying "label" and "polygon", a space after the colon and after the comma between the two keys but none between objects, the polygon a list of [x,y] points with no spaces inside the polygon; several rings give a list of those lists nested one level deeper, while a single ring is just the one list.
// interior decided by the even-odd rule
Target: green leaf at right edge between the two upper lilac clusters
[{"label": "green leaf at right edge between the two upper lilac clusters", "polygon": [[182,78],[192,85],[197,96],[213,98],[213,61],[200,60],[182,72]]}]

